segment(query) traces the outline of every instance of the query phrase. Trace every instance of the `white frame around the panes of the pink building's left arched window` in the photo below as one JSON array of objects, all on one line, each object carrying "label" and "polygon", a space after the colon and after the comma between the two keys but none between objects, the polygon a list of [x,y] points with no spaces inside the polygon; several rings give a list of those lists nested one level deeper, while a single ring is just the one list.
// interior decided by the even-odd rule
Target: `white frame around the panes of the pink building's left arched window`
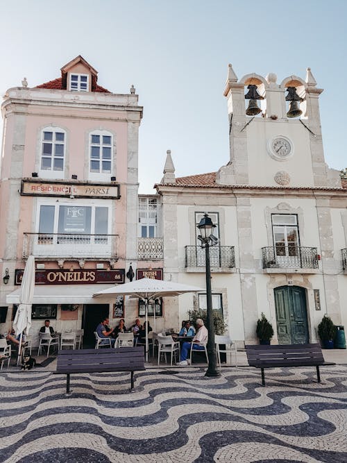
[{"label": "white frame around the panes of the pink building's left arched window", "polygon": [[[44,140],[44,133],[51,132],[52,133],[52,141]],[[64,134],[64,142],[60,142],[56,140],[56,133],[63,133]],[[51,143],[52,144],[52,153],[51,156],[44,155],[44,143]],[[56,144],[62,144],[62,156],[56,156]],[[67,145],[67,133],[64,129],[60,127],[53,127],[48,126],[42,128],[41,136],[40,136],[40,177],[41,178],[65,178],[65,160],[66,160],[66,145]],[[51,169],[42,169],[42,159],[49,158],[51,159]],[[55,158],[62,159],[62,170],[54,169],[54,160]]]}]

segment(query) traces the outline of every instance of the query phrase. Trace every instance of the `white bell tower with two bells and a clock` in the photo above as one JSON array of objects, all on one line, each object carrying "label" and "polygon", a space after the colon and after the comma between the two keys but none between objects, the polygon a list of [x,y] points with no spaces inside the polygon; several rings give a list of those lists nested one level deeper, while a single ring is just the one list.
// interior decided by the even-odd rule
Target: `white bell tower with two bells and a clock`
[{"label": "white bell tower with two bells and a clock", "polygon": [[224,96],[228,100],[230,161],[217,173],[221,185],[341,186],[339,172],[325,165],[319,96],[311,69],[305,80],[288,76],[277,83],[232,65]]}]

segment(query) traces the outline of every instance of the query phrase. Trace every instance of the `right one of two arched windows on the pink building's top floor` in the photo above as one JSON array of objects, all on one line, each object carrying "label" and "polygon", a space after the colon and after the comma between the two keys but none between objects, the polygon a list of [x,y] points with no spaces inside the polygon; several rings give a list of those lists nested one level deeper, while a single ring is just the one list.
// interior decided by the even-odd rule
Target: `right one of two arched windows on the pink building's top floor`
[{"label": "right one of two arched windows on the pink building's top floor", "polygon": [[109,132],[94,131],[90,134],[90,172],[111,174],[113,137]]}]

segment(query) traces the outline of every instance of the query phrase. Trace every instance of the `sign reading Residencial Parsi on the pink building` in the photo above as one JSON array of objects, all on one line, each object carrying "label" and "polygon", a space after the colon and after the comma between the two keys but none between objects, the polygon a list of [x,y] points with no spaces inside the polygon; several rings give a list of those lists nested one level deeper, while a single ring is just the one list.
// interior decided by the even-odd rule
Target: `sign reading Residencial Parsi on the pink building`
[{"label": "sign reading Residencial Parsi on the pink building", "polygon": [[67,196],[71,198],[119,199],[115,183],[69,183],[50,180],[22,180],[22,196]]}]

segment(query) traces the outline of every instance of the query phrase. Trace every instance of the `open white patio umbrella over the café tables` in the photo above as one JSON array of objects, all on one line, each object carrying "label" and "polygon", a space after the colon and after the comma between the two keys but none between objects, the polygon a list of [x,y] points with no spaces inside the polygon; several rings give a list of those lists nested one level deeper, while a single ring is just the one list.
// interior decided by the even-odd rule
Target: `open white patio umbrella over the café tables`
[{"label": "open white patio umbrella over the caf\u00e9 tables", "polygon": [[108,289],[93,294],[93,297],[98,296],[135,296],[144,299],[144,307],[146,313],[146,362],[149,360],[149,337],[148,337],[148,306],[149,300],[158,297],[179,296],[189,292],[204,291],[203,288],[183,285],[182,283],[174,283],[166,280],[155,280],[154,278],[141,278],[141,280],[131,281],[124,285],[117,285]]}]

